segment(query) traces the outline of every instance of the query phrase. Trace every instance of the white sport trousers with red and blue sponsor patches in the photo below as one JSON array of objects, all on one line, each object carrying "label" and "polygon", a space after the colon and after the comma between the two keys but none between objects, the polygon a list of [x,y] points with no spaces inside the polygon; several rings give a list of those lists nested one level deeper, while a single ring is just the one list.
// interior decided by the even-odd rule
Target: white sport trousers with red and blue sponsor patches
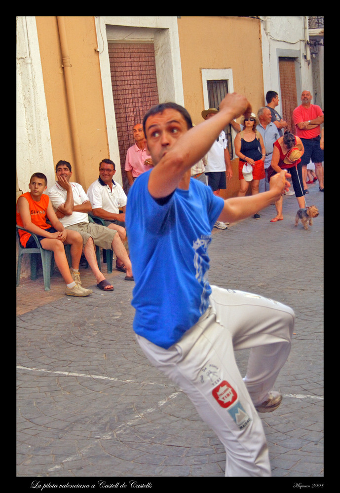
[{"label": "white sport trousers with red and blue sponsor patches", "polygon": [[[137,340],[225,446],[226,476],[271,476],[262,423],[254,408],[272,389],[291,347],[294,312],[262,296],[212,286],[211,306],[168,350]],[[234,350],[253,348],[241,378]]]}]

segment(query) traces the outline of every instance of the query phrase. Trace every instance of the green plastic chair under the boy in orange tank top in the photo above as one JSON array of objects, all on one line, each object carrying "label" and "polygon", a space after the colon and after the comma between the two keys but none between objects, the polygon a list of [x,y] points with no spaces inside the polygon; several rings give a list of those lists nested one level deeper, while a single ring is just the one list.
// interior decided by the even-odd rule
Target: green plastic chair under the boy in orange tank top
[{"label": "green plastic chair under the boy in orange tank top", "polygon": [[[24,248],[21,243],[20,243],[20,236],[19,236],[19,229],[22,231],[28,231],[34,241],[36,242],[36,248]],[[18,286],[20,283],[20,272],[21,272],[21,264],[22,264],[22,256],[25,253],[28,253],[31,255],[30,257],[30,262],[31,262],[31,280],[36,281],[38,278],[38,260],[39,260],[39,255],[41,257],[41,263],[42,263],[42,274],[44,278],[44,288],[45,291],[50,291],[51,289],[51,276],[53,274],[54,270],[54,255],[53,251],[50,250],[45,250],[44,248],[41,247],[37,235],[32,233],[32,231],[25,229],[21,226],[16,225],[16,232],[17,232],[17,238],[18,238],[18,244],[19,244],[19,256],[18,256],[18,267],[17,267],[17,276],[16,276],[16,285]],[[65,245],[65,254],[67,261],[69,263],[69,266],[72,265],[71,261],[71,245]]]}]

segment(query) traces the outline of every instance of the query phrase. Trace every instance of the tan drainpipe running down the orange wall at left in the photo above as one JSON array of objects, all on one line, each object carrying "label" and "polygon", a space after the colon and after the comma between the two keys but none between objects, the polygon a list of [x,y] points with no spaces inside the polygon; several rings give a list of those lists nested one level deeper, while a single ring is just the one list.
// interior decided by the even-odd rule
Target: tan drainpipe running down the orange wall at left
[{"label": "tan drainpipe running down the orange wall at left", "polygon": [[65,18],[58,17],[58,29],[59,29],[59,39],[60,39],[60,47],[65,75],[65,85],[66,85],[66,96],[67,96],[67,104],[68,111],[70,116],[70,124],[71,124],[71,138],[73,143],[73,150],[75,156],[75,168],[76,168],[76,177],[77,181],[80,182],[83,186],[85,186],[85,177],[82,166],[81,159],[81,151],[80,151],[80,141],[78,134],[78,125],[76,118],[76,103],[75,103],[75,93],[73,89],[73,81],[72,81],[72,70],[71,70],[71,59],[69,55],[69,47],[67,44],[66,37],[66,28],[65,28]]}]

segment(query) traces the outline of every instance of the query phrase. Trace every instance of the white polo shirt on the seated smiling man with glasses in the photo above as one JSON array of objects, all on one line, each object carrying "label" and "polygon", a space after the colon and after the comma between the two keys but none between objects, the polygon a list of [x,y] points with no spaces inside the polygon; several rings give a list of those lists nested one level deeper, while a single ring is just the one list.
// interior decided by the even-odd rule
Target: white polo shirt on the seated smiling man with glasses
[{"label": "white polo shirt on the seated smiling man with glasses", "polygon": [[119,214],[119,207],[126,206],[127,197],[121,185],[112,180],[112,190],[109,185],[99,177],[91,183],[87,190],[92,209],[104,209],[113,214]]}]

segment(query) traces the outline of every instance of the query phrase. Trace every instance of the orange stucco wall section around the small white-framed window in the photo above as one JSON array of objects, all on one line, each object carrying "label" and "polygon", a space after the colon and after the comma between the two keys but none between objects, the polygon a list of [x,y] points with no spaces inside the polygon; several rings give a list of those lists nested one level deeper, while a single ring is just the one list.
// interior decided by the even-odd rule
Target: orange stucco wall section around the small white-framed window
[{"label": "orange stucco wall section around the small white-framed window", "polygon": [[[183,16],[178,19],[184,102],[193,123],[202,122],[202,69],[231,69],[234,91],[257,113],[264,101],[260,21],[245,17]],[[239,121],[239,119],[237,120]],[[236,195],[238,158],[224,196]]]}]

